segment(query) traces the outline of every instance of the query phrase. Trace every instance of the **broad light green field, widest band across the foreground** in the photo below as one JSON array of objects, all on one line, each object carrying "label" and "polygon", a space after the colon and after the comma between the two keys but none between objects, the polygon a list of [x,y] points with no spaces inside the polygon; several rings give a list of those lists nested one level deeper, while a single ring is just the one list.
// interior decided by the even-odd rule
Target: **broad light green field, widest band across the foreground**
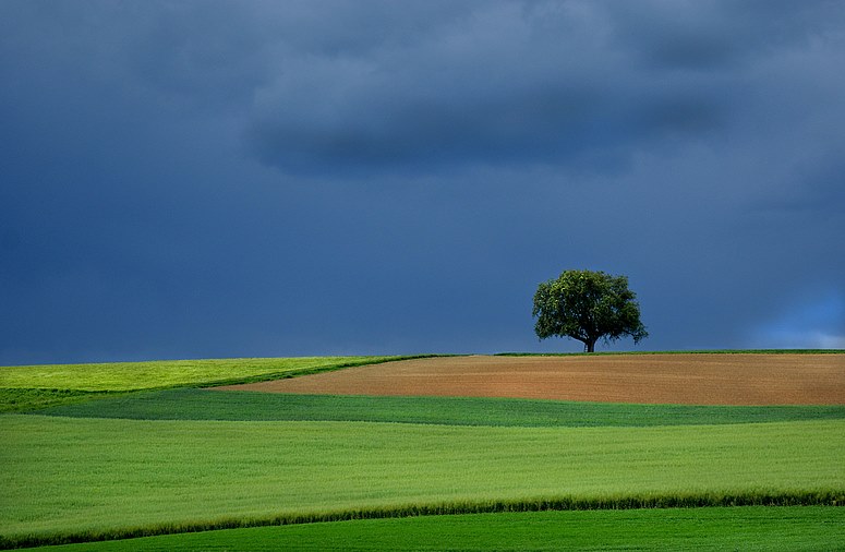
[{"label": "broad light green field, widest band across the foreground", "polygon": [[845,494],[845,421],[468,428],[0,417],[7,542],[491,501]]}]

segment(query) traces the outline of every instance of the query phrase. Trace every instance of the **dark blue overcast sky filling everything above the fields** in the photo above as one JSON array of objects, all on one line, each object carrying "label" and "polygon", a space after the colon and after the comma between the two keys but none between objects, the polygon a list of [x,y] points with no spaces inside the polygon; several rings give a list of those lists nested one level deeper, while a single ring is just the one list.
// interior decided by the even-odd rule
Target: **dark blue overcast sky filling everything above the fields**
[{"label": "dark blue overcast sky filling everything above the fields", "polygon": [[[845,348],[840,1],[0,1],[0,364]],[[599,344],[597,350],[607,347]]]}]

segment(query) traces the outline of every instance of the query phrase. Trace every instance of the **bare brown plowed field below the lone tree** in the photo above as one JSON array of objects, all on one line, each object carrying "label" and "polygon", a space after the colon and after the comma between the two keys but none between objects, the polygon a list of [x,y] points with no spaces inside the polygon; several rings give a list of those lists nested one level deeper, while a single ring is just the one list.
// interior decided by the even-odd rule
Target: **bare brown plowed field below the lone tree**
[{"label": "bare brown plowed field below the lone tree", "polygon": [[845,405],[845,355],[447,357],[218,388],[689,405]]}]

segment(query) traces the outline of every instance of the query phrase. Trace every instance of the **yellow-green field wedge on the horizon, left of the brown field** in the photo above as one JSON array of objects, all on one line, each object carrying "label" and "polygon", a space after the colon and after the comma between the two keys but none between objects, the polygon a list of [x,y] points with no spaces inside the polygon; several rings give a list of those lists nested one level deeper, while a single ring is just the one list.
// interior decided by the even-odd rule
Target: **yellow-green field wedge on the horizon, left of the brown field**
[{"label": "yellow-green field wedge on the horizon, left of the brown field", "polygon": [[283,377],[410,357],[158,360],[0,367],[0,388],[135,391]]}]

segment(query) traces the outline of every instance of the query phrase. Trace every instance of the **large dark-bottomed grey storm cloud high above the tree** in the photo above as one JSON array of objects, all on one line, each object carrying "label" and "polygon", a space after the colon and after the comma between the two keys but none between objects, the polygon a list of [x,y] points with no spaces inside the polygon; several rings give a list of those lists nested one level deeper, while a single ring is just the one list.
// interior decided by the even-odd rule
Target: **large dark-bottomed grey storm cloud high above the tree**
[{"label": "large dark-bottomed grey storm cloud high above the tree", "polygon": [[720,124],[709,83],[633,73],[595,11],[491,2],[365,57],[282,58],[256,93],[255,151],[292,171],[564,164]]}]

